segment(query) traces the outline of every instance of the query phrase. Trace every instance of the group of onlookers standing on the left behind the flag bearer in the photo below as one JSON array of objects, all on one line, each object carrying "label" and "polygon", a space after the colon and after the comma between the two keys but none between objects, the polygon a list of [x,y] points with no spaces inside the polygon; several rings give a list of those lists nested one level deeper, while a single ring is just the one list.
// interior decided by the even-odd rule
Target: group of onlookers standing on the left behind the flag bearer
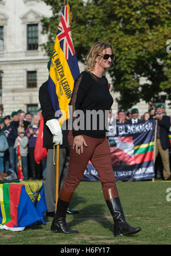
[{"label": "group of onlookers standing on the left behind the flag bearer", "polygon": [[46,179],[46,157],[37,164],[34,157],[39,121],[42,109],[36,115],[25,113],[22,109],[5,115],[0,105],[0,172],[17,174],[21,156],[23,180]]}]

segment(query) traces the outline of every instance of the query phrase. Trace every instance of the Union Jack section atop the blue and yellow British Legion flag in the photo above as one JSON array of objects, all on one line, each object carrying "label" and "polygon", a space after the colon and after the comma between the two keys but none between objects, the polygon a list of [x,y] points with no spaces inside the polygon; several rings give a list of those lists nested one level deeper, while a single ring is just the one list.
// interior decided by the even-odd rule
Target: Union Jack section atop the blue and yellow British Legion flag
[{"label": "Union Jack section atop the blue and yellow British Legion flag", "polygon": [[67,1],[66,1],[66,5],[63,7],[63,10],[62,10],[62,15],[60,17],[57,36],[60,42],[60,47],[62,47],[64,56],[66,57],[66,60],[67,60],[69,58],[69,51],[71,52],[72,56],[75,54],[74,46],[72,43],[70,17],[68,14]]}]

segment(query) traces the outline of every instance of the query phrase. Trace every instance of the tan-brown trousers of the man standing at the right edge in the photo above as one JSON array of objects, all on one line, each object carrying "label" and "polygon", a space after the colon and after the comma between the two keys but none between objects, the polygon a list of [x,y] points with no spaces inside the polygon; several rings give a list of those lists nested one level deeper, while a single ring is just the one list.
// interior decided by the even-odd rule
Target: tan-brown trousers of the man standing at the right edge
[{"label": "tan-brown trousers of the man standing at the right edge", "polygon": [[155,152],[155,160],[156,157],[160,153],[162,164],[163,164],[163,177],[166,180],[170,176],[170,164],[169,164],[169,149],[163,149],[161,145],[160,139],[156,140],[156,152]]}]

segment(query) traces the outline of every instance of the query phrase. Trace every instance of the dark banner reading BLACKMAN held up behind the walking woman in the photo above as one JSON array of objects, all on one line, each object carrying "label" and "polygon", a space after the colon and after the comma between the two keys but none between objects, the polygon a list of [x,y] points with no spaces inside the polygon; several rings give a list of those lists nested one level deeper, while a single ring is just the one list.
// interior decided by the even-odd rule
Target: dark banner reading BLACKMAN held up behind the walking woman
[{"label": "dark banner reading BLACKMAN held up behind the walking woman", "polygon": [[[148,180],[154,177],[155,128],[156,120],[116,125],[116,135],[108,137],[116,181]],[[90,180],[98,180],[91,163],[87,165],[83,180],[88,180],[88,175]]]}]

